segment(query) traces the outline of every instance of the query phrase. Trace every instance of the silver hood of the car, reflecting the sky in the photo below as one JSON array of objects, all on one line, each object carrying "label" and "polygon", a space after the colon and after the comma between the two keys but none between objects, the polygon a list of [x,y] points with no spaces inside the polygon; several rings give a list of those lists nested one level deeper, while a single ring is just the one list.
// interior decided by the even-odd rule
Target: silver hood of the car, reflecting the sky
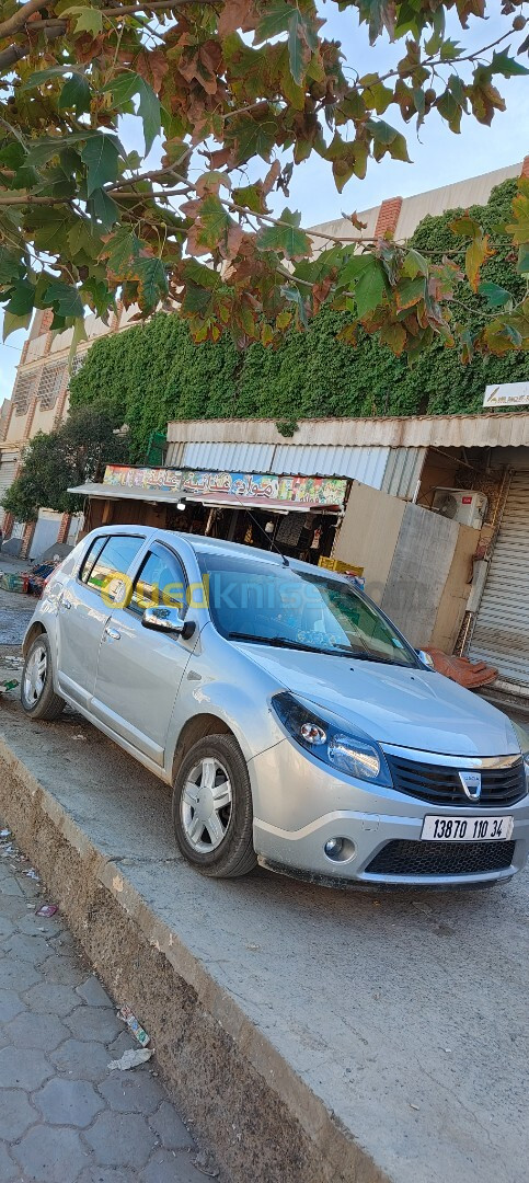
[{"label": "silver hood of the car, reflecting the sky", "polygon": [[507,716],[440,673],[263,645],[244,648],[285,690],[381,744],[452,756],[520,752]]}]

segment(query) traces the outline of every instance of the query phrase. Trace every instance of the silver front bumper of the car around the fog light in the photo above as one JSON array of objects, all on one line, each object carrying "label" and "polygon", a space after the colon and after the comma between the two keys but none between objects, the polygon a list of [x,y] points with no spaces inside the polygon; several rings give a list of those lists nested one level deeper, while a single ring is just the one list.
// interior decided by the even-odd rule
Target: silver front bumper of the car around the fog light
[{"label": "silver front bumper of the car around the fog light", "polygon": [[[409,887],[479,886],[511,879],[521,871],[529,854],[529,796],[507,808],[456,808],[432,806],[411,799],[394,789],[366,782],[338,778],[320,761],[307,756],[289,739],[254,757],[250,764],[252,780],[256,853],[264,866],[286,873],[303,874],[336,886],[387,884]],[[325,809],[325,804],[328,808]],[[323,810],[322,810],[323,806]],[[511,842],[469,842],[469,859],[459,849],[458,858],[437,852],[452,843],[422,842],[424,819],[428,815],[457,817],[514,817]],[[346,856],[335,860],[324,846],[333,838],[347,839]],[[420,854],[420,873],[408,870],[406,855],[399,859],[398,873],[370,871],[370,865],[388,843],[413,842]],[[347,856],[347,852],[353,853]],[[415,845],[417,843],[417,845]],[[458,843],[463,846],[463,843]],[[479,851],[476,847],[479,846]],[[432,852],[433,873],[428,873],[426,847]],[[490,849],[490,856],[483,848]],[[492,848],[496,847],[495,851]],[[498,851],[502,847],[502,851]],[[396,851],[396,847],[394,848]],[[402,852],[409,847],[400,847]],[[379,865],[381,859],[378,860]],[[391,862],[391,859],[383,860]],[[417,860],[413,860],[417,864]],[[439,864],[445,862],[445,868]],[[452,868],[451,868],[452,864]],[[489,865],[490,864],[490,865]],[[502,865],[507,864],[507,865]],[[457,865],[454,872],[453,866]],[[476,867],[479,870],[476,870]],[[464,867],[464,870],[462,870]]]}]

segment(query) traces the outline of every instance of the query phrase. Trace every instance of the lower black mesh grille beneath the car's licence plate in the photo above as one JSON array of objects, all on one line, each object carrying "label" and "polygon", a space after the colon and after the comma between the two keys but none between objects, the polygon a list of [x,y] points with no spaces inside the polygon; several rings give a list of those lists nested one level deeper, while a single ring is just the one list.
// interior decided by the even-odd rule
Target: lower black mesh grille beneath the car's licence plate
[{"label": "lower black mesh grille beneath the car's licence plate", "polygon": [[471,875],[505,871],[515,842],[387,842],[366,867],[372,875]]}]

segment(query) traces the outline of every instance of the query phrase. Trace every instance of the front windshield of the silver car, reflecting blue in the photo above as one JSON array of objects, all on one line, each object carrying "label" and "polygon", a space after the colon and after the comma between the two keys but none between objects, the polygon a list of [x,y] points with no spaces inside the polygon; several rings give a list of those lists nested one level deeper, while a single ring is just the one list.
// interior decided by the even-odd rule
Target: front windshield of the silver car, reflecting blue
[{"label": "front windshield of the silver car, reflecting blue", "polygon": [[375,605],[328,575],[199,556],[213,623],[231,640],[418,666],[411,646]]}]

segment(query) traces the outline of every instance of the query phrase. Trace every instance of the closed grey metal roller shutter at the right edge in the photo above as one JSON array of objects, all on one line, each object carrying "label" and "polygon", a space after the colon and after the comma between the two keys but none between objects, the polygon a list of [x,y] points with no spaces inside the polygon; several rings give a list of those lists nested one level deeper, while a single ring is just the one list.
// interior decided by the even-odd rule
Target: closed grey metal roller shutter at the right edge
[{"label": "closed grey metal roller shutter at the right edge", "polygon": [[529,686],[529,471],[512,476],[469,655]]}]

